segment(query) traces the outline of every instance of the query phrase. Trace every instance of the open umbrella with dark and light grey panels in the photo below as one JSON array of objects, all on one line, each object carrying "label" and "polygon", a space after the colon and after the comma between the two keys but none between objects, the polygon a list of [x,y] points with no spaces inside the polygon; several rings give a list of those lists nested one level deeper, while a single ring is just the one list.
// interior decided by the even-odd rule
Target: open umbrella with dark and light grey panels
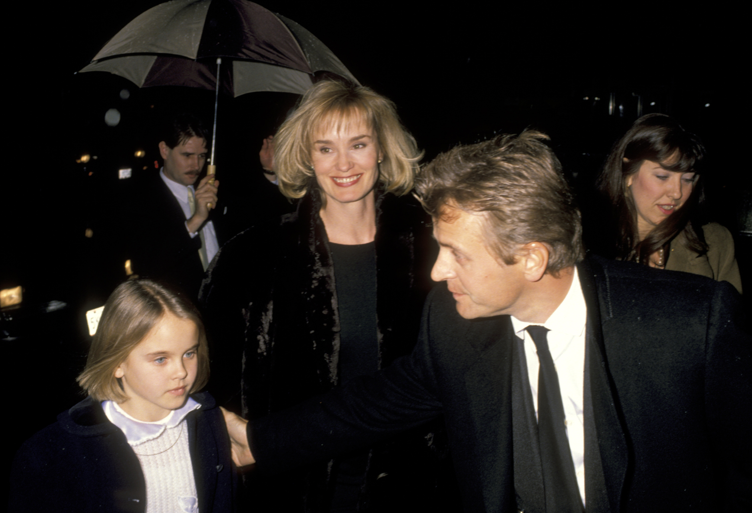
[{"label": "open umbrella with dark and light grey panels", "polygon": [[[221,72],[220,59],[231,63]],[[259,91],[303,94],[322,72],[358,83],[311,32],[247,0],[156,5],[126,25],[80,71],[108,71],[139,87],[189,86],[216,90],[217,95],[222,89],[235,97]],[[210,164],[211,172],[214,140]]]}]

